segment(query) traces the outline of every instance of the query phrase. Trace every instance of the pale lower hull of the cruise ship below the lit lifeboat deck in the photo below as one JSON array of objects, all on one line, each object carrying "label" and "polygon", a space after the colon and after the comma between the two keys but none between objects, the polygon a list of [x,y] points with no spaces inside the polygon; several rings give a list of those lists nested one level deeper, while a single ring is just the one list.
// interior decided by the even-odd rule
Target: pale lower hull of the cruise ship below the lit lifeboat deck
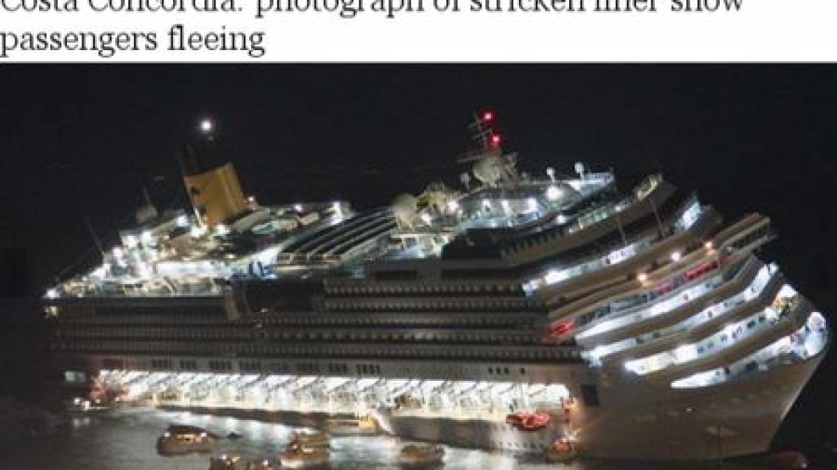
[{"label": "pale lower hull of the cruise ship below the lit lifeboat deck", "polygon": [[[589,457],[650,460],[713,460],[768,450],[773,435],[799,392],[819,365],[819,355],[795,364],[747,375],[737,381],[692,389],[650,386],[647,381],[599,375],[599,406],[580,400],[570,411],[552,411],[549,425],[536,431],[513,427],[497,415],[455,417],[455,413],[373,411],[383,432],[407,440],[510,452],[543,452],[572,434],[578,453]],[[560,367],[559,367],[560,368]],[[566,372],[567,366],[564,371]],[[576,376],[592,371],[574,366]],[[584,374],[583,372],[586,372]],[[588,379],[586,381],[588,381]],[[608,384],[604,386],[603,384]],[[579,384],[567,384],[575,389]],[[346,413],[314,410],[260,410],[166,402],[167,409],[246,416],[295,426],[325,427]]]}]

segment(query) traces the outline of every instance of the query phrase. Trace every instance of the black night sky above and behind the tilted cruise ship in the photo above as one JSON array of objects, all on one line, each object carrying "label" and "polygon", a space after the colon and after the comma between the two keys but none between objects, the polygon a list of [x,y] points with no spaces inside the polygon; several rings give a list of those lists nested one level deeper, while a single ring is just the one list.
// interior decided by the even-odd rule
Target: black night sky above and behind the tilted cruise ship
[{"label": "black night sky above and behind the tilted cruise ship", "polygon": [[92,246],[83,217],[115,233],[141,186],[182,201],[173,155],[205,115],[261,202],[370,207],[455,183],[470,113],[490,105],[523,169],[661,169],[728,218],[768,214],[768,258],[837,311],[834,66],[7,65],[0,86],[7,294],[41,294]]}]

